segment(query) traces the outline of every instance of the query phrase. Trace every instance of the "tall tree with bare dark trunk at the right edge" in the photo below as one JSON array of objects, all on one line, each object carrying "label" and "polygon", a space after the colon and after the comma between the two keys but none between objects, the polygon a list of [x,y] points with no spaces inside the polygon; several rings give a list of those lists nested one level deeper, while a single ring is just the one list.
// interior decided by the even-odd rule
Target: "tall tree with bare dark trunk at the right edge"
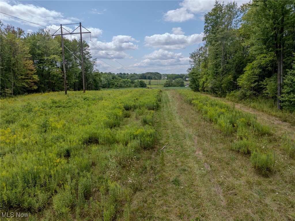
[{"label": "tall tree with bare dark trunk at the right edge", "polygon": [[[291,57],[295,50],[294,1],[253,1],[243,17],[244,27],[250,34],[249,43],[255,51],[269,51],[277,59],[277,108],[281,109],[281,90],[283,85],[283,68],[286,57]],[[287,54],[286,54],[287,53]],[[288,55],[289,54],[289,55]],[[291,63],[287,66],[290,67]]]}]

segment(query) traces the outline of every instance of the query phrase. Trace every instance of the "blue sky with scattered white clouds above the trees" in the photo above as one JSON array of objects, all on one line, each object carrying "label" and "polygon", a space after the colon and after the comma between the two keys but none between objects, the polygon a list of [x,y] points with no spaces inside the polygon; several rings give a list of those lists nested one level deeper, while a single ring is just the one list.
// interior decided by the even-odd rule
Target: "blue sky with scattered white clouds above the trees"
[{"label": "blue sky with scattered white clouds above the trees", "polygon": [[[82,37],[91,38],[86,41],[97,57],[96,68],[102,72],[186,74],[189,54],[203,44],[204,15],[214,4],[215,0],[1,0],[0,20],[28,33],[47,27],[52,34],[60,24],[71,32],[78,24],[64,24],[81,22],[91,32]],[[87,30],[82,28],[82,32]]]}]

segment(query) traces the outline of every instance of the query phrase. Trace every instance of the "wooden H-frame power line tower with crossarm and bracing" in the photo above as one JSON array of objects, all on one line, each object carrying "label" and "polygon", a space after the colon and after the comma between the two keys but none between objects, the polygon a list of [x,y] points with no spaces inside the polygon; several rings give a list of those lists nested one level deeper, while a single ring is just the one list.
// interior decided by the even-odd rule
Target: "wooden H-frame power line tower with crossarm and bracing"
[{"label": "wooden H-frame power line tower with crossarm and bracing", "polygon": [[[80,34],[80,42],[81,42],[81,60],[82,60],[82,78],[83,78],[83,93],[85,93],[85,75],[84,75],[84,59],[83,59],[83,40],[82,40],[82,34],[86,34],[86,33],[91,33],[89,32],[89,30],[87,30],[85,27],[83,27],[80,23],[73,23],[73,24],[79,24],[78,27],[80,27],[80,32],[75,32],[77,30],[78,27],[76,27],[75,30],[73,30],[72,32],[69,32],[68,30],[66,30],[69,33],[65,33],[63,34],[63,25],[60,24],[60,28],[58,30],[60,30],[60,34],[55,34],[56,32],[53,33],[52,36],[56,36],[56,35],[61,35],[61,47],[63,50],[63,76],[64,76],[64,81],[65,81],[65,94],[67,94],[67,82],[66,82],[66,76],[65,76],[65,53],[64,53],[64,49],[63,49],[63,35],[73,35],[73,34]],[[64,24],[64,25],[70,25],[70,24]],[[85,28],[88,32],[82,32],[82,27]]]}]

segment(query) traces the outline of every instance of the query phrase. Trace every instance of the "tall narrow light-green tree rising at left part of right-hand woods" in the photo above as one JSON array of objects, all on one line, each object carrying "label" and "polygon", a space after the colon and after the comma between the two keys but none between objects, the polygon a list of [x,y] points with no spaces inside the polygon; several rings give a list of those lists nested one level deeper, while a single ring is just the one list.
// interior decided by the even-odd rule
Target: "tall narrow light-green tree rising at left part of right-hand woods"
[{"label": "tall narrow light-green tree rising at left part of right-hand woods", "polygon": [[[208,48],[209,89],[219,94],[230,90],[232,76],[241,65],[235,58],[240,55],[241,42],[239,27],[241,10],[237,3],[220,4],[205,15],[204,37]],[[239,52],[239,53],[237,53]],[[198,72],[196,72],[198,73]]]}]

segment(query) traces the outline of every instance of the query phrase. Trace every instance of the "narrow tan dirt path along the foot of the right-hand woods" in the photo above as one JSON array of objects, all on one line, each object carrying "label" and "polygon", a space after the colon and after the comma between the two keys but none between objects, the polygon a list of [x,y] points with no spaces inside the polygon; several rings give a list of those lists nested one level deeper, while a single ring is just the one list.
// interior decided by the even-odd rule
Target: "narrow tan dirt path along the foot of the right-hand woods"
[{"label": "narrow tan dirt path along the foot of the right-hand woods", "polygon": [[[208,94],[204,94],[204,95],[207,95],[207,96],[214,98],[214,99],[221,100],[221,101],[223,101],[227,104],[230,104],[230,105],[234,104],[234,102],[228,101],[227,99],[224,99],[224,98],[217,98],[217,97],[214,97],[214,96],[208,95]],[[295,139],[295,125],[292,125],[288,122],[283,122],[278,117],[271,116],[271,115],[266,114],[264,112],[247,107],[246,105],[243,105],[243,104],[235,103],[235,108],[240,109],[245,112],[255,114],[257,116],[257,119],[259,122],[269,125],[272,128],[274,134],[278,135],[279,137],[286,134],[288,137]]]}]

